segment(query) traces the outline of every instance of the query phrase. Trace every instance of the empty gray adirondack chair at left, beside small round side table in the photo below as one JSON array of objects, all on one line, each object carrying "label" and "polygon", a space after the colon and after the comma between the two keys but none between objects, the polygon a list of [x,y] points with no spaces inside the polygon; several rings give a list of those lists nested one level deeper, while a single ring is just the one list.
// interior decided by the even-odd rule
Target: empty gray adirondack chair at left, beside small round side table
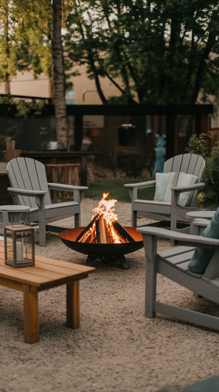
[{"label": "empty gray adirondack chair at left, beside small round side table", "polygon": [[[88,187],[47,183],[45,165],[32,158],[12,159],[7,165],[7,174],[11,182],[8,191],[14,204],[30,207],[30,221],[39,222],[39,235],[35,234],[39,245],[46,246],[46,230],[61,232],[66,229],[47,223],[75,215],[75,227],[80,226],[82,191]],[[49,189],[73,192],[74,201],[52,204]]]}]

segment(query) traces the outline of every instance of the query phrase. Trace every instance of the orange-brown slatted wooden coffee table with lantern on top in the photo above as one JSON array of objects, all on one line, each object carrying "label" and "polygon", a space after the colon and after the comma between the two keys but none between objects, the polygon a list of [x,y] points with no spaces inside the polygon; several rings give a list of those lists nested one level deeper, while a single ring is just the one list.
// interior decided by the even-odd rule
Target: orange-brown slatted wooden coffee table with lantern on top
[{"label": "orange-brown slatted wooden coffee table with lantern on top", "polygon": [[79,281],[95,268],[35,256],[32,267],[5,264],[4,241],[0,241],[0,285],[23,291],[23,335],[25,343],[39,341],[38,292],[66,285],[67,327],[80,326]]}]

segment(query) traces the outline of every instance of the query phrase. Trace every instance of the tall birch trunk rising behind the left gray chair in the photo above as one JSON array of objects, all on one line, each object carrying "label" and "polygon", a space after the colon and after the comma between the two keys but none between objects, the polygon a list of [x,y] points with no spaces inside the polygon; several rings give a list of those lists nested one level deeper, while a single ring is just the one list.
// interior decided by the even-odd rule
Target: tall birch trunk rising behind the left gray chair
[{"label": "tall birch trunk rising behind the left gray chair", "polygon": [[52,58],[53,58],[53,102],[55,105],[57,142],[68,143],[65,101],[65,78],[62,53],[62,0],[53,0]]}]

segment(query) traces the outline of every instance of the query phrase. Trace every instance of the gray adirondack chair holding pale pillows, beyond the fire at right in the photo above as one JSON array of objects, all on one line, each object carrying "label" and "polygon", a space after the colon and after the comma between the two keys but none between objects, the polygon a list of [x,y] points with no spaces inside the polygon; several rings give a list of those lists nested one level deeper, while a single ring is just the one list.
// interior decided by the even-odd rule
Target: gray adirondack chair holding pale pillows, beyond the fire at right
[{"label": "gray adirondack chair holding pale pillows, beyond the fire at right", "polygon": [[[168,159],[164,163],[164,173],[184,172],[198,176],[198,183],[186,187],[177,187],[178,177],[175,177],[173,184],[171,202],[140,200],[137,198],[137,190],[155,186],[155,180],[140,182],[136,184],[125,184],[128,187],[132,199],[132,227],[137,227],[137,214],[145,218],[161,220],[160,226],[168,227],[168,221],[171,222],[171,230],[176,230],[176,222],[190,223],[186,217],[189,211],[199,210],[196,207],[198,192],[205,185],[201,183],[201,177],[205,170],[205,160],[197,154],[181,154]],[[180,193],[191,191],[187,205],[182,207],[178,204]],[[162,223],[166,221],[166,223]],[[152,224],[151,224],[152,225]],[[178,225],[178,228],[186,225]]]}]

